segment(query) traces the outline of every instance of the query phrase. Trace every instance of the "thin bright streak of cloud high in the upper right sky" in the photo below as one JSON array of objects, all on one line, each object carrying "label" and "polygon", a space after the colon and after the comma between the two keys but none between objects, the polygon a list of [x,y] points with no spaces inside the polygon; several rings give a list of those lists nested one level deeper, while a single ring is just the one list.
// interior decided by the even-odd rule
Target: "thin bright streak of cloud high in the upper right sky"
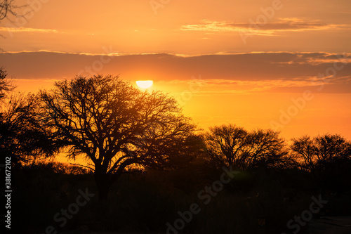
[{"label": "thin bright streak of cloud high in the upper right sky", "polygon": [[333,30],[344,28],[346,25],[326,24],[319,20],[301,20],[299,18],[279,18],[277,22],[225,22],[201,20],[197,25],[183,25],[183,31],[204,32],[245,32],[261,36],[274,36],[278,32],[303,32],[307,30]]}]

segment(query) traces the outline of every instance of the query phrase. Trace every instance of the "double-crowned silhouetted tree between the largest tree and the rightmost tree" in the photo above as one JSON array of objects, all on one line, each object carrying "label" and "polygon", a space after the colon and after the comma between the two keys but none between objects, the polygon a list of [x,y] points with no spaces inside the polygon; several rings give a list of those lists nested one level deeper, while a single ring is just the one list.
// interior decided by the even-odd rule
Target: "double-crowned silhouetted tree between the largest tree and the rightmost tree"
[{"label": "double-crowned silhouetted tree between the largest tree and the rightmost tree", "polygon": [[248,132],[232,124],[214,126],[204,134],[204,141],[211,157],[242,170],[279,167],[286,156],[284,140],[272,130]]}]

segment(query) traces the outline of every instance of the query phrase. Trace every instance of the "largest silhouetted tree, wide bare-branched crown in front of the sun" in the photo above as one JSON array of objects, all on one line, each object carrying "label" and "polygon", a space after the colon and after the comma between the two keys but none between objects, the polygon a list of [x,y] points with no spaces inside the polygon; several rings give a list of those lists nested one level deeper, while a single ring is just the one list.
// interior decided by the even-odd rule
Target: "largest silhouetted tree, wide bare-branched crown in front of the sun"
[{"label": "largest silhouetted tree, wide bare-branched crown in front of the sun", "polygon": [[57,82],[40,98],[41,120],[67,146],[68,157],[89,160],[100,200],[122,172],[176,166],[191,147],[195,126],[176,100],[160,91],[135,89],[119,77]]}]

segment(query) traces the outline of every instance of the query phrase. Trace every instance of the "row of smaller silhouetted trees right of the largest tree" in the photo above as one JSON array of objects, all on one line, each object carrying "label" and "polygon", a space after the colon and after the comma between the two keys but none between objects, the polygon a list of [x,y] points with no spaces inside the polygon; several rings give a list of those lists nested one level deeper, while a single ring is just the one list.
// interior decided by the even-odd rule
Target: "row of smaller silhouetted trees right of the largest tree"
[{"label": "row of smaller silhouetted trees right of the largest tree", "polygon": [[208,157],[219,165],[241,171],[298,169],[310,173],[322,191],[326,186],[348,190],[351,142],[338,134],[292,138],[289,145],[278,132],[228,124],[212,127],[203,138]]}]

